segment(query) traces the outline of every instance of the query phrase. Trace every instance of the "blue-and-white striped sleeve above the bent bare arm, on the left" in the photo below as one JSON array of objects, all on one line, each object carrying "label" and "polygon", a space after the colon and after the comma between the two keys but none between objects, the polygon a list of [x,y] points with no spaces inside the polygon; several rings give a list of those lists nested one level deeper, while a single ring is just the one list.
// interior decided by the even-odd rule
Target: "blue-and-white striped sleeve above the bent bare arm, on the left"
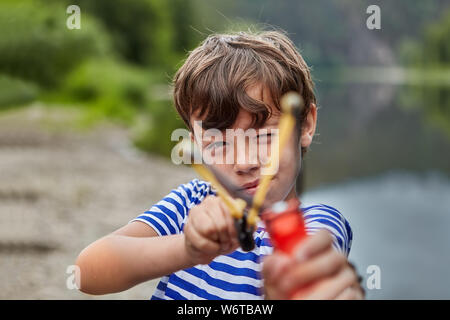
[{"label": "blue-and-white striped sleeve above the bent bare arm, on the left", "polygon": [[144,222],[160,236],[179,234],[183,230],[189,210],[211,193],[208,183],[194,179],[172,190],[129,223]]}]

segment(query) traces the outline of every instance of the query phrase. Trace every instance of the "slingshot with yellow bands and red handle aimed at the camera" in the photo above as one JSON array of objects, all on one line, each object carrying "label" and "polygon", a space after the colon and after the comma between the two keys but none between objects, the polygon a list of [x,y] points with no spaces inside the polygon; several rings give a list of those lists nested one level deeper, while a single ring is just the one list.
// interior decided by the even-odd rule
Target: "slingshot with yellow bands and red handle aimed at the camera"
[{"label": "slingshot with yellow bands and red handle aimed at the camera", "polygon": [[[232,183],[227,177],[205,163],[192,164],[193,168],[202,177],[209,181],[217,190],[217,195],[228,207],[230,214],[235,219],[238,231],[239,243],[244,251],[251,251],[255,247],[253,232],[259,219],[262,219],[267,227],[274,248],[287,254],[292,254],[294,247],[306,236],[303,214],[300,210],[300,201],[291,199],[287,202],[279,201],[267,208],[264,200],[269,190],[269,184],[277,170],[274,166],[279,163],[281,151],[286,146],[293,129],[299,124],[296,122],[303,108],[303,99],[295,92],[288,92],[281,101],[282,115],[279,122],[279,136],[275,139],[267,167],[270,174],[262,175],[254,197],[244,193],[240,187]],[[299,128],[300,129],[300,128]],[[190,154],[192,145],[181,142],[182,152]],[[189,143],[191,144],[191,143]],[[196,152],[196,151],[194,151]],[[247,207],[250,209],[245,210]]]}]

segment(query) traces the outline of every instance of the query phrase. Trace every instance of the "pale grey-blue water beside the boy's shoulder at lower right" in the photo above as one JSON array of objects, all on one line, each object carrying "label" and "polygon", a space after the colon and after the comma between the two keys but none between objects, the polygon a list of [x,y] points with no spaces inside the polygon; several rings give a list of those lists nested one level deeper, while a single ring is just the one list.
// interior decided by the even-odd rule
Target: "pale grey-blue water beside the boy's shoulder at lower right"
[{"label": "pale grey-blue water beside the boy's shoulder at lower right", "polygon": [[[450,180],[437,172],[389,172],[311,190],[302,201],[337,208],[350,222],[349,260],[380,289],[369,299],[450,298]],[[371,282],[373,283],[373,282]]]}]

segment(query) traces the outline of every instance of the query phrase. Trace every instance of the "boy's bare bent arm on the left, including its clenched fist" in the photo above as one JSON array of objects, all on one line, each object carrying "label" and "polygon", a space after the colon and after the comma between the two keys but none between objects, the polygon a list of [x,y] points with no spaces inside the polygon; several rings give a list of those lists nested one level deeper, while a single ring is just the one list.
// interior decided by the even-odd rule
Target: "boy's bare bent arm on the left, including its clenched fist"
[{"label": "boy's bare bent arm on the left, including its clenched fist", "polygon": [[239,247],[234,221],[222,201],[209,196],[190,210],[180,234],[158,236],[134,221],[95,241],[78,256],[80,290],[114,293],[176,271],[207,264]]}]

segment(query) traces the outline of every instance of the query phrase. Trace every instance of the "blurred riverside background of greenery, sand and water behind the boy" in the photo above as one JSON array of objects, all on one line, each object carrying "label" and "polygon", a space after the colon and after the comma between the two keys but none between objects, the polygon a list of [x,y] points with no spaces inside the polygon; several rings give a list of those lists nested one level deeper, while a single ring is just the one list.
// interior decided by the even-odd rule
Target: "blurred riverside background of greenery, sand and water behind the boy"
[{"label": "blurred riverside background of greenery, sand and water behind the boy", "polygon": [[[72,4],[80,29],[66,25]],[[70,265],[195,176],[170,161],[184,125],[169,83],[186,53],[213,32],[271,27],[316,83],[302,201],[349,220],[364,285],[380,270],[369,299],[449,299],[448,0],[1,0],[0,298],[150,298],[156,281],[71,290]]]}]

